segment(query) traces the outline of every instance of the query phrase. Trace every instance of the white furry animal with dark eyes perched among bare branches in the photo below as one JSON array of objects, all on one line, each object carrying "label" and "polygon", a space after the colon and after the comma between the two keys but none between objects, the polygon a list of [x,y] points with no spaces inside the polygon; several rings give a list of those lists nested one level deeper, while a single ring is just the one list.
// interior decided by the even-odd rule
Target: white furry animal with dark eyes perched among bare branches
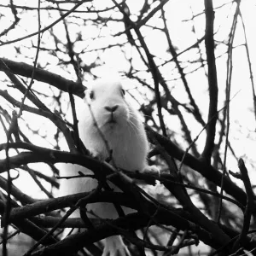
[{"label": "white furry animal with dark eyes perched among bare branches", "polygon": [[[127,171],[156,171],[155,166],[148,166],[147,163],[149,147],[140,113],[126,102],[125,90],[120,82],[98,80],[86,97],[88,99],[82,109],[77,108],[79,136],[84,146],[101,160],[109,157],[108,148],[111,149],[112,163]],[[108,142],[108,147],[104,140]],[[65,165],[61,176],[78,175],[79,171],[91,173],[82,166]],[[61,179],[61,195],[90,191],[96,185],[96,179],[90,177]],[[110,203],[90,204],[86,208],[100,218],[118,218],[115,207]],[[79,212],[74,212],[73,217],[79,217]],[[108,237],[104,243],[102,256],[130,255],[121,236]]]}]

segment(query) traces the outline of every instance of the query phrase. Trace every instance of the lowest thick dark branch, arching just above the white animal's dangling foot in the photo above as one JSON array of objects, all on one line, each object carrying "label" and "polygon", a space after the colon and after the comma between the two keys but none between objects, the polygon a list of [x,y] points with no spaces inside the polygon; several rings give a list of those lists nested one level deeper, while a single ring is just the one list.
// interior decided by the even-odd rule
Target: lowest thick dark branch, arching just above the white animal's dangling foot
[{"label": "lowest thick dark branch, arching just above the white animal's dangling foot", "polygon": [[[158,212],[155,215],[155,219],[160,224],[176,224],[180,230],[184,230],[186,226],[190,226],[189,221],[186,219],[170,216],[166,212]],[[182,220],[182,221],[181,221]],[[60,241],[52,246],[45,247],[44,250],[38,250],[38,252],[32,253],[33,256],[42,255],[70,255],[76,253],[80,248],[86,247],[95,241],[99,241],[105,237],[117,235],[122,233],[122,230],[138,230],[140,228],[148,226],[150,218],[141,213],[132,213],[125,218],[118,218],[113,221],[108,221],[109,224],[101,224],[94,230],[87,230],[83,233],[79,233],[73,236],[68,236],[67,239]],[[152,223],[154,224],[154,223]],[[116,228],[118,227],[118,228]],[[191,228],[191,226],[189,227]],[[204,230],[198,230],[200,238],[207,244],[210,242],[212,247],[218,247],[214,243],[214,239]]]}]

